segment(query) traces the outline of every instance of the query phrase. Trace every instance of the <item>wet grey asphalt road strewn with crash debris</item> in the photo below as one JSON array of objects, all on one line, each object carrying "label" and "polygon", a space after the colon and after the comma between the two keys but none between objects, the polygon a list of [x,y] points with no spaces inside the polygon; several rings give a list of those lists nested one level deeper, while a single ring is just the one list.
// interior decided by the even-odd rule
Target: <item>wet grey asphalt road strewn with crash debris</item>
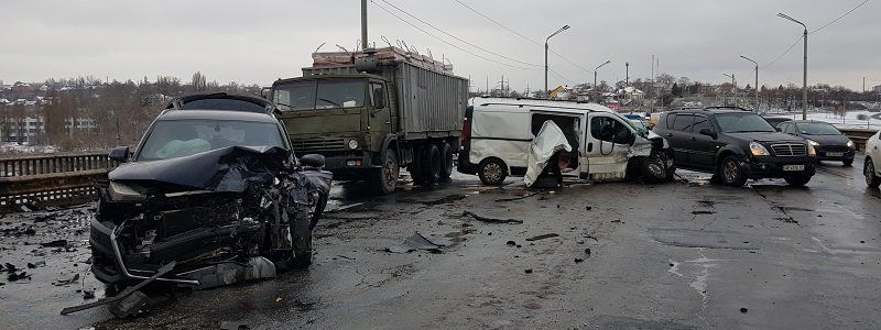
[{"label": "wet grey asphalt road strewn with crash debris", "polygon": [[[83,301],[77,288],[97,286],[90,275],[50,284],[87,267],[76,232],[87,207],[35,235],[14,233],[41,213],[9,216],[0,262],[47,266],[0,279],[0,327],[879,329],[881,194],[866,188],[861,164],[825,164],[806,188],[720,187],[679,170],[672,184],[572,185],[510,201],[499,199],[527,194],[519,179],[491,188],[456,176],[384,197],[337,186],[307,271],[182,295],[126,320],[101,308],[58,315]],[[388,251],[414,232],[448,246]],[[33,245],[65,235],[78,251]]]}]

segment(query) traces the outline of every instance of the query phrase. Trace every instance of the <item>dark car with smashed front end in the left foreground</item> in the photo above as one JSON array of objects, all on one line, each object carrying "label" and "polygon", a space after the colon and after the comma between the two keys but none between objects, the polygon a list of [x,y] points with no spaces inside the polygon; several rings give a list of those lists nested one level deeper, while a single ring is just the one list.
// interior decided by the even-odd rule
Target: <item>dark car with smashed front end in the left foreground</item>
[{"label": "dark car with smashed front end in the left foreground", "polygon": [[275,111],[253,97],[183,97],[137,148],[110,152],[122,164],[98,184],[89,238],[110,296],[151,276],[200,289],[311,263],[331,175],[319,155],[294,157]]}]

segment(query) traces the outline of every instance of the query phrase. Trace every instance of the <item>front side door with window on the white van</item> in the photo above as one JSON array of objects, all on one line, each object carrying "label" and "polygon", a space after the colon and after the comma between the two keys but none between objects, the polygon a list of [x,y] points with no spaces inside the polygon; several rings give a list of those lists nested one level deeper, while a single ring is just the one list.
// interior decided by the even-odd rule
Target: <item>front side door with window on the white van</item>
[{"label": "front side door with window on the white van", "polygon": [[611,113],[590,112],[588,120],[589,129],[585,138],[590,179],[623,179],[635,134]]}]

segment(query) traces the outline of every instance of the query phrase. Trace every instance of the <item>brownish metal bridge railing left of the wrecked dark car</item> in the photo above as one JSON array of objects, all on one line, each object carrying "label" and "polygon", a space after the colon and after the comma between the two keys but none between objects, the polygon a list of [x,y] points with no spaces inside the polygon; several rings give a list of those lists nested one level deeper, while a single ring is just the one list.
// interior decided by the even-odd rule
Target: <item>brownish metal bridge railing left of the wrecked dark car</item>
[{"label": "brownish metal bridge railing left of the wrecked dark car", "polygon": [[106,152],[0,158],[0,210],[94,200],[95,182],[117,165]]}]

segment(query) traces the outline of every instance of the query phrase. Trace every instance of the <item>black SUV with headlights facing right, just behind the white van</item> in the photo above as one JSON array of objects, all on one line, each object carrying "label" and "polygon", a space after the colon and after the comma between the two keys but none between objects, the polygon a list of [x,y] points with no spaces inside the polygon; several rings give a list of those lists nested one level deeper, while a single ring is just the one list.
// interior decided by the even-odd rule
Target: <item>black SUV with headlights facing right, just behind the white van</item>
[{"label": "black SUV with headlights facing right, just behind the white van", "polygon": [[713,173],[714,182],[784,178],[804,186],[814,176],[816,152],[805,140],[777,132],[740,108],[681,109],[661,116],[654,132],[667,139],[677,167]]}]

